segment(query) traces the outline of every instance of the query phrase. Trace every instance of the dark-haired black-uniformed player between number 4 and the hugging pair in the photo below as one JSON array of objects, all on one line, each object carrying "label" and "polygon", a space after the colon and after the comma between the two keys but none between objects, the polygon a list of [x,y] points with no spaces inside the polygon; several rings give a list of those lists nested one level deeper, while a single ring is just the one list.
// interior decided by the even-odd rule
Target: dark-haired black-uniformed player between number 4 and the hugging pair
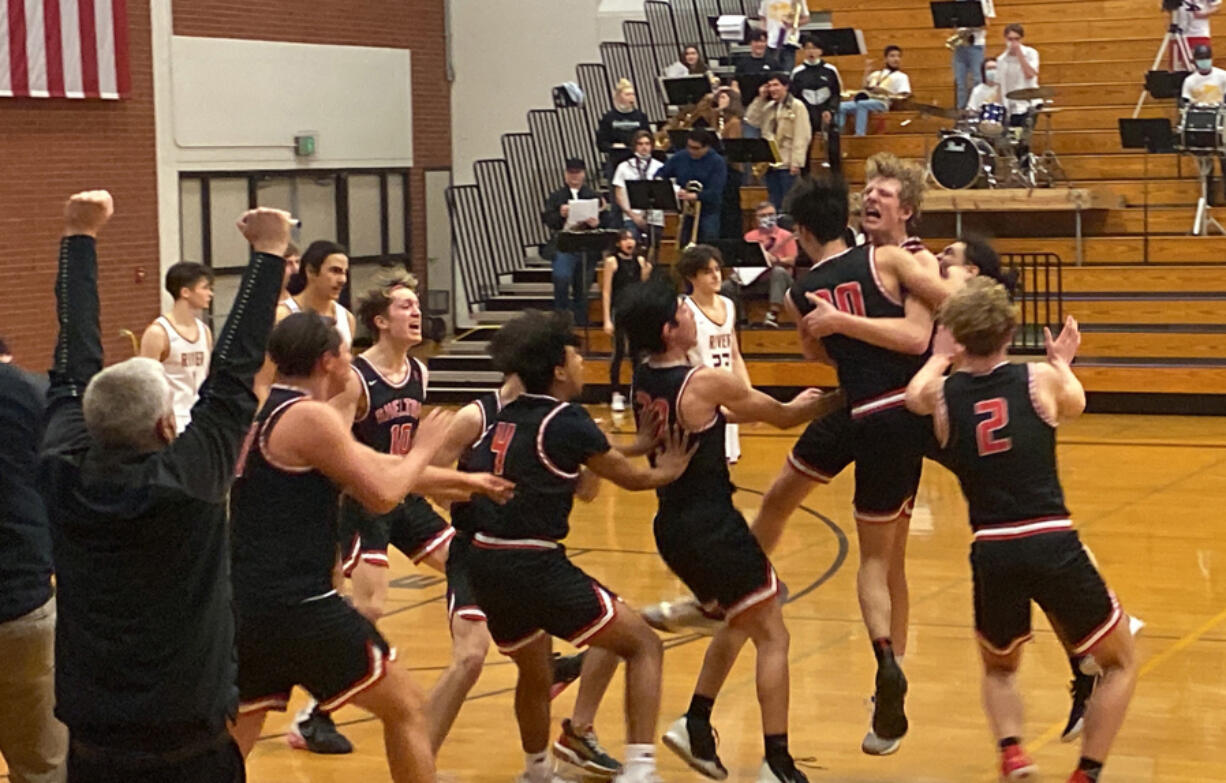
[{"label": "dark-haired black-uniformed player between number 4 and the hugging pair", "polygon": [[716,656],[726,648],[734,654],[752,638],[765,743],[758,781],[804,783],[787,747],[788,634],[776,600],[779,578],[732,505],[725,423],[733,418],[796,426],[818,415],[829,399],[807,390],[783,404],[733,373],[691,366],[687,357],[698,339],[694,310],[664,283],[629,290],[618,317],[628,325],[631,350],[650,354],[634,374],[640,430],[658,420],[684,429],[698,444],[685,473],[657,490],[656,547],[704,608],[722,610],[728,621],[707,649],[689,711],[668,728],[663,741],[706,777],[728,777],[711,729],[714,697],[727,674]]}]

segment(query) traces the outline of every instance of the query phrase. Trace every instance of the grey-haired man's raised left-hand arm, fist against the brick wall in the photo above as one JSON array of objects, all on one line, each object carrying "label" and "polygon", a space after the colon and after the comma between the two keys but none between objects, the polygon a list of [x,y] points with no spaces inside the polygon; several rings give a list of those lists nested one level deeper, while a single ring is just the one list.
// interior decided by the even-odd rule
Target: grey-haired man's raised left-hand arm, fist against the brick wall
[{"label": "grey-haired man's raised left-hand arm, fist against the brick wall", "polygon": [[81,398],[89,379],[102,370],[96,239],[114,211],[114,201],[105,190],[76,194],[64,208],[55,273],[59,336],[47,390],[44,451],[82,451],[89,445]]}]

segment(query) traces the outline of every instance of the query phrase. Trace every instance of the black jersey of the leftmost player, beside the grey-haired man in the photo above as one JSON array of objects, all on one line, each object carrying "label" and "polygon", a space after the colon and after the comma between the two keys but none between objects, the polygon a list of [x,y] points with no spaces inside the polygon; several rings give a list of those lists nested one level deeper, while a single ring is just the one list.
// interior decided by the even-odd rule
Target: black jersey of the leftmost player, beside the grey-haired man
[{"label": "black jersey of the leftmost player, beside the grey-haired man", "polygon": [[332,589],[340,490],[310,468],[268,458],[268,436],[306,392],[273,386],[238,458],[230,488],[234,598],[249,610],[298,604]]}]

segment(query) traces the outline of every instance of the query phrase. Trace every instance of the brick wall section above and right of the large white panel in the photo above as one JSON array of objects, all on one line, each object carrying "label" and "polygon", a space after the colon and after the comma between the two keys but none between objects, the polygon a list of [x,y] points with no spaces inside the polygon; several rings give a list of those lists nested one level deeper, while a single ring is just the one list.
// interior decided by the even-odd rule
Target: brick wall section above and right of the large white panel
[{"label": "brick wall section above and right of the large white panel", "polygon": [[451,165],[451,89],[443,0],[180,0],[174,33],[413,51],[413,164],[409,208],[413,271],[425,281],[424,168]]}]

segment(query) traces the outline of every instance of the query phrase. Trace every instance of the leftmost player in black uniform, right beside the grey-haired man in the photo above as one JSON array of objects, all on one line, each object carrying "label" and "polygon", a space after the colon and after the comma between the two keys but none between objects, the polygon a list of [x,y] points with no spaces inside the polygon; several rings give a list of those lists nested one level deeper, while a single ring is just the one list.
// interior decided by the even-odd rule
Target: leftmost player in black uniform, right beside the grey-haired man
[{"label": "leftmost player in black uniform, right beside the grey-haired man", "polygon": [[267,711],[284,709],[300,685],[325,713],[352,701],[380,718],[394,781],[433,781],[421,692],[375,626],[337,594],[332,567],[341,488],[371,511],[395,509],[428,468],[450,414],[427,417],[408,455],[381,455],[356,441],[325,402],[352,375],[348,346],[330,320],[288,316],[273,328],[268,355],[277,380],[230,491],[235,739],[250,752]]}]

